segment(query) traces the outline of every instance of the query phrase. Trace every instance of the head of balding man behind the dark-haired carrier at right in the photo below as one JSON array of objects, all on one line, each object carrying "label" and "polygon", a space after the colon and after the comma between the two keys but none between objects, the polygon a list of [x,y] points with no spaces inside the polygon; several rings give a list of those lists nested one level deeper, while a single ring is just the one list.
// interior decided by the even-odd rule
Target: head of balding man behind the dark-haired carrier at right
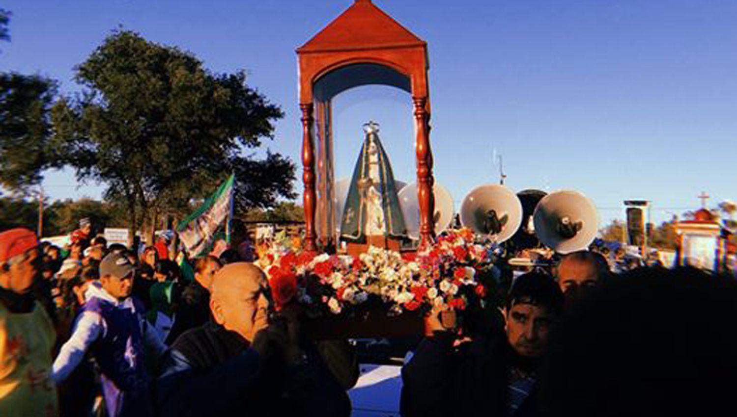
[{"label": "head of balding man behind the dark-haired carrier at right", "polygon": [[556,277],[561,291],[575,299],[594,288],[607,271],[607,260],[601,254],[579,251],[563,257],[556,268]]}]

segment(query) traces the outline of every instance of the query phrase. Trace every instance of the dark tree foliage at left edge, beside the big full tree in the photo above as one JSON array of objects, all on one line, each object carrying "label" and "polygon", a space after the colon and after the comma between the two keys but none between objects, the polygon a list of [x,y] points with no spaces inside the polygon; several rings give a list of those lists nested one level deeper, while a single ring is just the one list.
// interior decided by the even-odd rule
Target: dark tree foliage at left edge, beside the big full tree
[{"label": "dark tree foliage at left edge, beside the big full tree", "polygon": [[42,76],[0,73],[0,184],[16,192],[38,185],[57,164],[49,109],[56,83]]}]

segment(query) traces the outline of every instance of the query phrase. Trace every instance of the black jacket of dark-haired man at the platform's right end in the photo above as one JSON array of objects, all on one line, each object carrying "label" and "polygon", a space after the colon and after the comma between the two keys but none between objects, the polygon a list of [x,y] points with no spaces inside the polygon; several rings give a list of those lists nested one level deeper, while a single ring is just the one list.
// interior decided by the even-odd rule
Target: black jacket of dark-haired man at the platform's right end
[{"label": "black jacket of dark-haired man at the platform's right end", "polygon": [[453,348],[453,335],[423,339],[402,368],[400,412],[405,417],[538,416],[537,390],[509,412],[514,353],[501,330]]}]

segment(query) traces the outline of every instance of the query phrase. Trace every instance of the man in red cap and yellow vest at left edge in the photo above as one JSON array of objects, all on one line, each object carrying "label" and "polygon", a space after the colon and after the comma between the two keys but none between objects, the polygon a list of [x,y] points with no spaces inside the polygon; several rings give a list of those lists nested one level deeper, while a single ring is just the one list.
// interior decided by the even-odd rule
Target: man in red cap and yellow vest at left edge
[{"label": "man in red cap and yellow vest at left edge", "polygon": [[49,378],[54,326],[31,288],[41,273],[38,239],[29,229],[0,233],[0,416],[56,416]]}]

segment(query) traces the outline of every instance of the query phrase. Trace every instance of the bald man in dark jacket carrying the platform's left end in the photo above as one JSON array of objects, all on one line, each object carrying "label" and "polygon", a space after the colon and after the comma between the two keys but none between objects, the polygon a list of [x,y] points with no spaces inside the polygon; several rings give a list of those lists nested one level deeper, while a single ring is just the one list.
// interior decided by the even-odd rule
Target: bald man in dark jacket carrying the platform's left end
[{"label": "bald man in dark jacket carrying the platform's left end", "polygon": [[165,357],[160,416],[349,416],[348,396],[298,324],[271,319],[259,268],[221,268],[210,310],[213,321],[184,332]]}]

